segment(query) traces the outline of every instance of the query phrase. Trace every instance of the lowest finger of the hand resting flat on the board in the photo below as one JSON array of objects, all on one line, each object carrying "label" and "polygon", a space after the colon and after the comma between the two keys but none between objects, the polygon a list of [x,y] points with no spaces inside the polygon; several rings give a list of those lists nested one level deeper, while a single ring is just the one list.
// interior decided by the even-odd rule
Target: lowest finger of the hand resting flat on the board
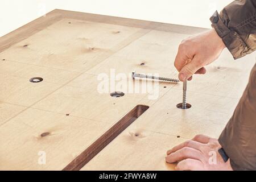
[{"label": "lowest finger of the hand resting flat on the board", "polygon": [[204,166],[200,160],[196,159],[185,159],[181,160],[175,167],[178,171],[203,171]]}]

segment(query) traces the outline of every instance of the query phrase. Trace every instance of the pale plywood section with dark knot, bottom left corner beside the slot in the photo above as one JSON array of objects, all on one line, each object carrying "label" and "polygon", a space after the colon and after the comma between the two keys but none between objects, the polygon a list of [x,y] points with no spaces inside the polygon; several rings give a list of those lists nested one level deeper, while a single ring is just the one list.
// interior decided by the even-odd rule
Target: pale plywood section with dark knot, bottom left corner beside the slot
[{"label": "pale plywood section with dark knot, bottom left corner beside the slot", "polygon": [[[28,109],[0,127],[0,169],[61,170],[108,127],[105,122]],[[38,163],[40,151],[46,154],[46,164]]]}]

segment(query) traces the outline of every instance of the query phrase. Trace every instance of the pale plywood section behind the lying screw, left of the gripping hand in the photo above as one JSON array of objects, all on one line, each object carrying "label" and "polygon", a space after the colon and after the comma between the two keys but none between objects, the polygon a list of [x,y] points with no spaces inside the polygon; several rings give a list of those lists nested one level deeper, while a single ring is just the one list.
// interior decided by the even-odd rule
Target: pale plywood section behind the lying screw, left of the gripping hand
[{"label": "pale plywood section behind the lying screw, left of the gripping hand", "polygon": [[177,45],[187,36],[187,34],[152,30],[86,73],[109,73],[113,68],[117,73],[136,71],[177,78],[174,67]]}]

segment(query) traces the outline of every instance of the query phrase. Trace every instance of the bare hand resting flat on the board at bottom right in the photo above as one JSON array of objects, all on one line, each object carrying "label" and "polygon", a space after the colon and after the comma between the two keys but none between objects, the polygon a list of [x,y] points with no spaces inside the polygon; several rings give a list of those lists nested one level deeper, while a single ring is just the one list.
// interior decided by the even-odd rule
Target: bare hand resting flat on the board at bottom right
[{"label": "bare hand resting flat on the board at bottom right", "polygon": [[218,149],[217,139],[196,135],[167,151],[166,162],[179,162],[176,170],[232,170],[229,160],[225,163]]}]

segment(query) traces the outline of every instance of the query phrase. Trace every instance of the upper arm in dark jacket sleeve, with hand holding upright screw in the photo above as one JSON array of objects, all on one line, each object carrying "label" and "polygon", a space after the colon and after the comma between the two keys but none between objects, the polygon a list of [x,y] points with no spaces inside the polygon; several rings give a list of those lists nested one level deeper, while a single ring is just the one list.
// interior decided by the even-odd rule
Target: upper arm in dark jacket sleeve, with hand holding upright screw
[{"label": "upper arm in dark jacket sleeve, with hand holding upright screw", "polygon": [[189,37],[179,46],[175,67],[181,81],[191,80],[194,73],[204,74],[227,47],[234,59],[256,49],[256,2],[237,0],[210,18],[213,30]]}]

